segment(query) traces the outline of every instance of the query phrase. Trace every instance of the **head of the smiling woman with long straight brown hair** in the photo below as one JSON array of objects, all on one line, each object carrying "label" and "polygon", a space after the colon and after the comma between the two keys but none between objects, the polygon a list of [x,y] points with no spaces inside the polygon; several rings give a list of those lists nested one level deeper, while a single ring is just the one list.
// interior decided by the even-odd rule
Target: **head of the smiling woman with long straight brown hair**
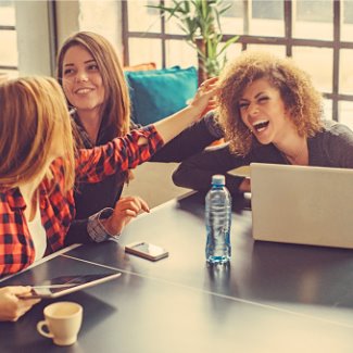
[{"label": "head of the smiling woman with long straight brown hair", "polygon": [[[68,37],[58,55],[56,76],[68,104],[76,109],[75,122],[86,131],[86,136],[80,134],[86,148],[129,130],[129,96],[123,67],[104,37],[88,31]],[[87,135],[86,127],[92,129],[93,125],[97,131]]]}]

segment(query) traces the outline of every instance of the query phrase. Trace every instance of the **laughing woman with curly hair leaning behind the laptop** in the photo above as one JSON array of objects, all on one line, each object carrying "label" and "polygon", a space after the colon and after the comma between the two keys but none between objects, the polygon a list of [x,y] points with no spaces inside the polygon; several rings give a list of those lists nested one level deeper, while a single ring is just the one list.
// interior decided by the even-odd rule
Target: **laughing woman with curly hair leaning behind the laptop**
[{"label": "laughing woman with curly hair leaning behind the laptop", "polygon": [[176,185],[206,190],[225,174],[232,193],[250,191],[249,179],[227,172],[252,162],[353,167],[353,131],[323,119],[320,93],[288,58],[243,52],[219,79],[215,114],[227,143],[182,162]]}]

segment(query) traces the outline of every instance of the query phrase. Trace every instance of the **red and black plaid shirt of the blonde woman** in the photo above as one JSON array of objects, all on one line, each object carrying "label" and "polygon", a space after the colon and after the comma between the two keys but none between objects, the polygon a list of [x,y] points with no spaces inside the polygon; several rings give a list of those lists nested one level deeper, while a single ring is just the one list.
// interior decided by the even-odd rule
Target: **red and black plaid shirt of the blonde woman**
[{"label": "red and black plaid shirt of the blonde woman", "polygon": [[[138,146],[140,137],[148,144]],[[163,141],[153,125],[134,130],[105,146],[79,150],[76,159],[76,180],[98,182],[116,171],[123,172],[148,161],[162,147]],[[75,217],[73,190],[63,193],[62,160],[55,160],[51,169],[52,180],[39,186],[41,223],[47,232],[48,252],[64,245],[68,226]],[[24,217],[25,201],[18,190],[0,188],[0,276],[14,274],[29,266],[35,249]]]}]

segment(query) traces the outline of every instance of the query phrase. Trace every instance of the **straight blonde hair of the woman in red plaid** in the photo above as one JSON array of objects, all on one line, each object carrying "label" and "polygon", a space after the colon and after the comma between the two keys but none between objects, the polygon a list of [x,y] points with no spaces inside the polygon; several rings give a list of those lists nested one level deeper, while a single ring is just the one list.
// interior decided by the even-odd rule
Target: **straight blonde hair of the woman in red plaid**
[{"label": "straight blonde hair of the woman in red plaid", "polygon": [[[64,191],[74,185],[74,142],[65,97],[50,77],[23,77],[0,85],[0,184],[34,181],[48,168],[55,141],[62,142]],[[58,142],[56,142],[58,143]],[[47,172],[47,177],[50,171]]]}]

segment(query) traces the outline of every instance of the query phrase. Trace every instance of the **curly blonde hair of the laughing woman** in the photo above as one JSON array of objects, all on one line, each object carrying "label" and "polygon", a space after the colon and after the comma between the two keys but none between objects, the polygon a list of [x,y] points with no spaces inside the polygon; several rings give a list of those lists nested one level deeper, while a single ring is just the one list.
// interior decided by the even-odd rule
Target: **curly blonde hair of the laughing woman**
[{"label": "curly blonde hair of the laughing woman", "polygon": [[323,98],[305,72],[289,58],[244,51],[219,77],[217,116],[230,150],[237,155],[249,153],[256,140],[242,122],[238,103],[245,88],[260,78],[279,90],[300,136],[312,137],[323,128]]}]

